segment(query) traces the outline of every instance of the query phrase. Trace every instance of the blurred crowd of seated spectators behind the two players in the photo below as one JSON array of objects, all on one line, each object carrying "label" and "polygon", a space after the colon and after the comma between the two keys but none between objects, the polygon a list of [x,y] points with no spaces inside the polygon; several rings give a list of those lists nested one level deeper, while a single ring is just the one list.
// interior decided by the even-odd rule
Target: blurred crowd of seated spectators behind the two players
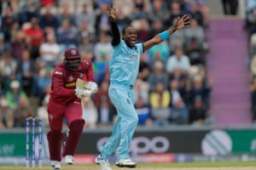
[{"label": "blurred crowd of seated spectators behind the two players", "polygon": [[[203,0],[3,0],[0,30],[0,128],[24,127],[43,118],[51,74],[66,48],[92,59],[98,93],[83,99],[86,127],[111,126],[116,111],[108,97],[112,53],[108,5],[117,7],[119,29],[137,29],[144,42],[189,14],[191,26],[141,56],[134,86],[139,126],[206,123],[212,84],[207,77],[209,8]],[[65,123],[65,122],[64,122]]]}]

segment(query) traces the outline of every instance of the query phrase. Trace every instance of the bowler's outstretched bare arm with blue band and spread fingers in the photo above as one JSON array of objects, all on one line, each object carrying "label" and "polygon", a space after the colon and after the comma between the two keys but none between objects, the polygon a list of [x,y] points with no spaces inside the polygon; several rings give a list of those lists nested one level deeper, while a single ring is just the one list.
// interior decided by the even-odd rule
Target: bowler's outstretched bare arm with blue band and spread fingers
[{"label": "bowler's outstretched bare arm with blue band and spread fingers", "polygon": [[190,26],[189,16],[184,14],[182,17],[177,17],[177,21],[173,26],[168,28],[166,31],[162,31],[159,34],[155,35],[153,38],[149,39],[147,42],[143,43],[144,51],[148,50],[152,46],[165,41],[177,30],[181,30],[183,27]]}]

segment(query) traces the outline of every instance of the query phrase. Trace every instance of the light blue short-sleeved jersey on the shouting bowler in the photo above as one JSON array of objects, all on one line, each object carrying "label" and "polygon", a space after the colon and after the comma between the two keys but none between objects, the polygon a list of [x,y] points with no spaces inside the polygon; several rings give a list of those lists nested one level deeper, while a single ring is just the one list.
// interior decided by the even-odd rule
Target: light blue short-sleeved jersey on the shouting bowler
[{"label": "light blue short-sleeved jersey on the shouting bowler", "polygon": [[133,86],[137,80],[140,54],[143,53],[143,43],[137,43],[134,48],[120,40],[113,47],[113,54],[109,62],[110,82]]}]

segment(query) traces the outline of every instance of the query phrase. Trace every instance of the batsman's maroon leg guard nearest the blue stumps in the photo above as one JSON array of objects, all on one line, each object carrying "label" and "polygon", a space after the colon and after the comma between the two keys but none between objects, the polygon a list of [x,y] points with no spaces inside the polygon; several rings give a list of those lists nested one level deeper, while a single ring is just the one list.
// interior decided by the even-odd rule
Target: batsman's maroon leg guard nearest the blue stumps
[{"label": "batsman's maroon leg guard nearest the blue stumps", "polygon": [[47,139],[49,144],[49,159],[51,161],[61,161],[61,142],[63,134],[57,131],[49,131]]}]

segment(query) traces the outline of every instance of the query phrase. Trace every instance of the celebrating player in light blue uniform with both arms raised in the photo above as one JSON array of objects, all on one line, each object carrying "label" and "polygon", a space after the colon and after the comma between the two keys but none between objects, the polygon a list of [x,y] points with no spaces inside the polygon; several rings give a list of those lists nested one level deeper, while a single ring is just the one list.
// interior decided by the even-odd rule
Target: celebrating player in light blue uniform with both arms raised
[{"label": "celebrating player in light blue uniform with both arms raised", "polygon": [[96,164],[100,165],[102,170],[112,170],[109,167],[108,156],[111,156],[116,149],[118,149],[116,166],[137,166],[137,163],[130,159],[129,147],[138,122],[132,88],[137,79],[140,54],[168,39],[174,31],[190,24],[189,16],[183,15],[178,17],[174,26],[166,31],[160,32],[147,42],[136,43],[137,31],[134,27],[125,26],[120,35],[116,24],[116,9],[111,6],[109,6],[109,16],[113,33],[113,54],[109,62],[110,87],[108,94],[116,107],[118,116],[113,126],[112,135],[102,146],[101,154],[96,157]]}]

